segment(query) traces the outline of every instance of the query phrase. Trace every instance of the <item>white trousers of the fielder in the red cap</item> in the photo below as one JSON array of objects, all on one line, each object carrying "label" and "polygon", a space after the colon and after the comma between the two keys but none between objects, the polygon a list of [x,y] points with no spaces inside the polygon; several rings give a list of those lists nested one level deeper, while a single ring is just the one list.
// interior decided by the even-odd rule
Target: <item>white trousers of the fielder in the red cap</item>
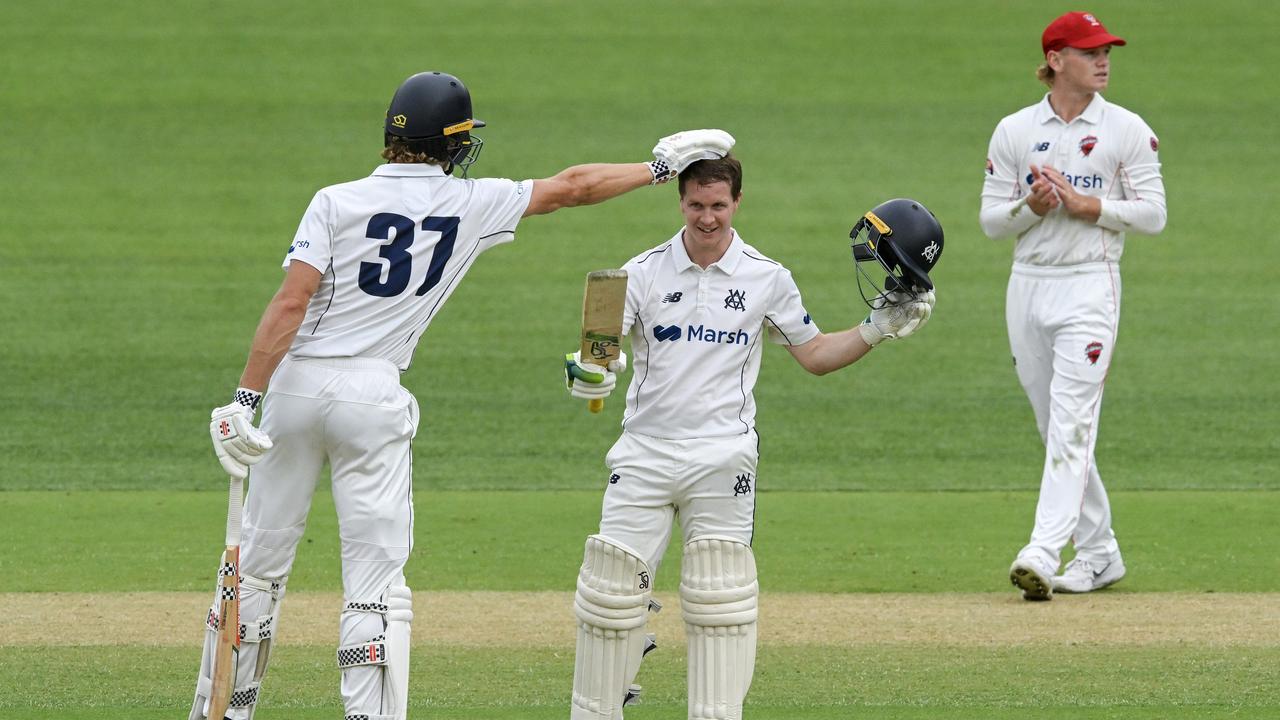
[{"label": "white trousers of the fielder in the red cap", "polygon": [[1079,557],[1106,565],[1120,547],[1093,448],[1120,323],[1120,268],[1014,264],[1005,320],[1044,442],[1036,527],[1019,556],[1038,553],[1056,568],[1074,542]]}]

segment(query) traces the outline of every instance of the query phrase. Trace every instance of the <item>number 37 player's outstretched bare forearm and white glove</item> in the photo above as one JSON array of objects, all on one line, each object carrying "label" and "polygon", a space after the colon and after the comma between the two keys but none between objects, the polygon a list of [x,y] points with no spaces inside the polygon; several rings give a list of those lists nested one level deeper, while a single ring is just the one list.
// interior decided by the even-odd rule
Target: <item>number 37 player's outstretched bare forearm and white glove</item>
[{"label": "number 37 player's outstretched bare forearm and white glove", "polygon": [[698,160],[723,158],[733,149],[733,136],[722,129],[695,129],[668,135],[653,149],[649,163],[573,165],[553,177],[534,181],[525,217],[545,215],[561,208],[594,205],[646,184],[667,182]]}]

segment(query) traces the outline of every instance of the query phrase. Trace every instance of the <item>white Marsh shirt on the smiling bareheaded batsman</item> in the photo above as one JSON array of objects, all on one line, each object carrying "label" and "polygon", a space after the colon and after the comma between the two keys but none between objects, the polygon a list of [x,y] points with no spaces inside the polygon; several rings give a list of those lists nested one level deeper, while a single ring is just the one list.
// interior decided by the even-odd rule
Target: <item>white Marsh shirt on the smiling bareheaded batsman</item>
[{"label": "white Marsh shirt on the smiling bareheaded batsman", "polygon": [[625,265],[623,334],[634,374],[622,428],[667,439],[733,436],[755,427],[762,340],[818,336],[791,272],[742,242],[705,270],[684,231]]}]

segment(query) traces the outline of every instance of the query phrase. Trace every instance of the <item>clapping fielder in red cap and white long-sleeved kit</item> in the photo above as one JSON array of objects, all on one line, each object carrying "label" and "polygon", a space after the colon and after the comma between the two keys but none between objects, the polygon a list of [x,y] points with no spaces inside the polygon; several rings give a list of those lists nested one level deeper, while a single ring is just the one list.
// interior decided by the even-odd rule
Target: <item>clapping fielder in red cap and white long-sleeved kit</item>
[{"label": "clapping fielder in red cap and white long-sleeved kit", "polygon": [[[1125,236],[1158,233],[1166,211],[1156,133],[1101,95],[1124,44],[1091,13],[1051,22],[1037,70],[1050,91],[1002,119],[987,154],[979,218],[991,238],[1015,238],[1005,320],[1044,442],[1034,527],[1009,569],[1027,600],[1125,575],[1093,448]],[[1068,544],[1075,559],[1059,575]]]}]

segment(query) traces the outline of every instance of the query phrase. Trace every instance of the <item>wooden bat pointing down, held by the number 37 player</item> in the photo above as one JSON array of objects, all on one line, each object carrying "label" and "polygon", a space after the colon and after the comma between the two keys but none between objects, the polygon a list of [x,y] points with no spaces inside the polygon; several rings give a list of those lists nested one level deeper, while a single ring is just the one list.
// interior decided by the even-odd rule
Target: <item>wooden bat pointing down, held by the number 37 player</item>
[{"label": "wooden bat pointing down, held by the number 37 player", "polygon": [[212,691],[209,693],[209,717],[221,720],[230,705],[239,664],[239,534],[241,510],[244,502],[244,480],[230,479],[227,503],[227,550],[218,569],[218,642],[214,644]]}]

